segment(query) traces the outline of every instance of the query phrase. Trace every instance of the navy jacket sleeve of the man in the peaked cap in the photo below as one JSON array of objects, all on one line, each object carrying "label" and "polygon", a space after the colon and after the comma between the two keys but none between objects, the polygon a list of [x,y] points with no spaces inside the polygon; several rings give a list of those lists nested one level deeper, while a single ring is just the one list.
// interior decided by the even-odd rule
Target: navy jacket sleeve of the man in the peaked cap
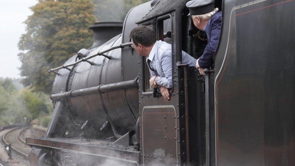
[{"label": "navy jacket sleeve of the man in the peaked cap", "polygon": [[198,61],[199,66],[201,68],[210,67],[211,64],[213,63],[212,56],[218,44],[220,27],[221,27],[221,19],[217,19],[212,22],[210,43],[207,44],[203,52],[203,55],[199,58],[199,61]]}]

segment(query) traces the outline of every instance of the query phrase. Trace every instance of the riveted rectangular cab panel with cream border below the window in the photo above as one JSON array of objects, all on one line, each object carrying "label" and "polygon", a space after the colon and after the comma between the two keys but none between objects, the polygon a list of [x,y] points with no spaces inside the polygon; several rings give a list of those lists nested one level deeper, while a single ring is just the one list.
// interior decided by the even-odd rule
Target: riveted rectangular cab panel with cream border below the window
[{"label": "riveted rectangular cab panel with cream border below the window", "polygon": [[142,113],[143,164],[177,163],[176,113],[173,106],[147,106]]}]

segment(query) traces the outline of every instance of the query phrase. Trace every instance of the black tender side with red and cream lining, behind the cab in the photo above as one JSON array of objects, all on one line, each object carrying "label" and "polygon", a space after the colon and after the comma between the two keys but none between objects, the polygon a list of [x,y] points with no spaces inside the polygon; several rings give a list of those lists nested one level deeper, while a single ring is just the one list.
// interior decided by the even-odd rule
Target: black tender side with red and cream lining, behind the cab
[{"label": "black tender side with red and cream lining, behind the cab", "polygon": [[223,1],[217,165],[295,165],[294,7],[293,0]]}]

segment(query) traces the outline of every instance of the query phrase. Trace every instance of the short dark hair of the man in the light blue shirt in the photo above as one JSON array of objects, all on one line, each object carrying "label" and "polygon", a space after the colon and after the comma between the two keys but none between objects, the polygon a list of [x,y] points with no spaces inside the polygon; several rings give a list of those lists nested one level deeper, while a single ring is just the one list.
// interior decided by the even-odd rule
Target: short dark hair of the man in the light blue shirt
[{"label": "short dark hair of the man in the light blue shirt", "polygon": [[144,25],[133,28],[129,37],[133,40],[134,44],[141,44],[145,47],[151,46],[157,40],[153,29]]}]

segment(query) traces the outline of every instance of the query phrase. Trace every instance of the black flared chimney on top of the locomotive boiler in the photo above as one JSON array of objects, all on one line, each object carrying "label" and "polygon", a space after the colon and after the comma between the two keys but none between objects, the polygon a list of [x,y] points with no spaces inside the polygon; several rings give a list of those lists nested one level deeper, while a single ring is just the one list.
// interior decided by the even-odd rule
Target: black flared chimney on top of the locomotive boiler
[{"label": "black flared chimney on top of the locomotive boiler", "polygon": [[94,33],[94,42],[91,47],[100,46],[111,38],[122,33],[122,22],[97,22],[90,26]]}]

